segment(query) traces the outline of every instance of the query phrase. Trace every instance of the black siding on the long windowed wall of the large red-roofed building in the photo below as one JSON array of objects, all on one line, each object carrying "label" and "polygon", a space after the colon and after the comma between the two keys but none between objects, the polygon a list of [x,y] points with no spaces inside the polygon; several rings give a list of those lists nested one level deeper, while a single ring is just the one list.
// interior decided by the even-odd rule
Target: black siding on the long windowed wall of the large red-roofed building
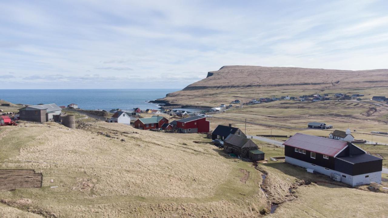
[{"label": "black siding on the long windowed wall of the large red-roofed building", "polygon": [[323,154],[315,153],[314,159],[310,157],[310,151],[306,150],[306,154],[302,154],[295,152],[295,148],[288,145],[284,145],[284,155],[334,170],[334,157],[329,156],[329,159],[324,159]]}]

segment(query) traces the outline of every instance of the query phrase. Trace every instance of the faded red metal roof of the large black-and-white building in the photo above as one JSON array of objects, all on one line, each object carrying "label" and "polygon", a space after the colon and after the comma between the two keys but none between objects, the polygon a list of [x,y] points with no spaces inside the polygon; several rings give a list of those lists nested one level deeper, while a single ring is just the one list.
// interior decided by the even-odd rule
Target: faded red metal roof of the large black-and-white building
[{"label": "faded red metal roof of the large black-and-white building", "polygon": [[300,149],[334,157],[347,146],[347,143],[330,138],[322,138],[314,135],[296,133],[287,141],[285,141],[283,145],[297,147]]}]

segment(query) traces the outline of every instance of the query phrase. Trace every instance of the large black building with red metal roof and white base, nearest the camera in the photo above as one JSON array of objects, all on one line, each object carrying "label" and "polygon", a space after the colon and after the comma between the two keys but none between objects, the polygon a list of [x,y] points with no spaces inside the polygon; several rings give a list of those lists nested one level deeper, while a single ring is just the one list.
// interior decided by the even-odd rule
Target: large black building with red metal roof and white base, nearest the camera
[{"label": "large black building with red metal roof and white base, nearest the camera", "polygon": [[351,142],[296,133],[283,145],[287,163],[352,186],[381,183],[383,159],[366,154]]}]

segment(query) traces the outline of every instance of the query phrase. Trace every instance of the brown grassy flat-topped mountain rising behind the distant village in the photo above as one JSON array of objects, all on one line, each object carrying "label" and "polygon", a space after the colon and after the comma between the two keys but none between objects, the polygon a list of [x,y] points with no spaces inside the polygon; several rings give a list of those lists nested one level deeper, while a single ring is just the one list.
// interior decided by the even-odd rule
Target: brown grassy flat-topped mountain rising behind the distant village
[{"label": "brown grassy flat-topped mountain rising behind the distant village", "polygon": [[[214,106],[234,99],[277,95],[358,92],[368,93],[388,87],[388,69],[335,70],[300,67],[223,66],[210,71],[203,80],[192,83],[162,100],[170,103]],[[357,90],[355,90],[357,89]],[[383,91],[386,92],[386,91]],[[280,96],[279,96],[280,97]]]}]

